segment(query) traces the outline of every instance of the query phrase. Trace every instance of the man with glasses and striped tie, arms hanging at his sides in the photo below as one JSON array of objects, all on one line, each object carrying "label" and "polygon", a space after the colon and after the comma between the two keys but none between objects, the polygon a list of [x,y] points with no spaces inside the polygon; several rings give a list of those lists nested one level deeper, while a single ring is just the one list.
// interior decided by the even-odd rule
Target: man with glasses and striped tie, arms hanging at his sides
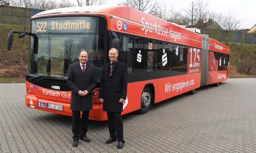
[{"label": "man with glasses and striped tie, arms hanging at his sides", "polygon": [[103,111],[108,115],[110,139],[106,143],[118,141],[118,149],[123,148],[123,121],[121,112],[127,94],[127,66],[117,61],[118,50],[109,50],[110,63],[103,66],[99,100],[103,103]]}]

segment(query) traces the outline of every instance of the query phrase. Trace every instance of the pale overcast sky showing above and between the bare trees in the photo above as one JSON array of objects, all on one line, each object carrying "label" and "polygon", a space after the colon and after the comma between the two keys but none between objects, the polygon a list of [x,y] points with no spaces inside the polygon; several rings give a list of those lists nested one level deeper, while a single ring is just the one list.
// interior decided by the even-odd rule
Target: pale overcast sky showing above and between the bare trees
[{"label": "pale overcast sky showing above and between the bare trees", "polygon": [[[106,4],[118,4],[124,0],[108,0]],[[176,11],[188,7],[192,0],[158,0]],[[256,24],[256,0],[208,0],[208,10],[223,15],[235,16],[240,20],[243,29],[251,29]]]}]

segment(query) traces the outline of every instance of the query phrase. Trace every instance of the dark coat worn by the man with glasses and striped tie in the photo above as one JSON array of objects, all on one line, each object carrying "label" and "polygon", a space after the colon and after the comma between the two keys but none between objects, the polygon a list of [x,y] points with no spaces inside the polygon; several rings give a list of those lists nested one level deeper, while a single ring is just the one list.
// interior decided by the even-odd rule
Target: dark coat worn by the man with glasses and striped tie
[{"label": "dark coat worn by the man with glasses and striped tie", "polygon": [[103,111],[122,112],[123,103],[120,98],[126,99],[127,94],[127,66],[119,61],[113,62],[113,72],[110,74],[110,63],[103,66],[99,98],[103,98]]}]

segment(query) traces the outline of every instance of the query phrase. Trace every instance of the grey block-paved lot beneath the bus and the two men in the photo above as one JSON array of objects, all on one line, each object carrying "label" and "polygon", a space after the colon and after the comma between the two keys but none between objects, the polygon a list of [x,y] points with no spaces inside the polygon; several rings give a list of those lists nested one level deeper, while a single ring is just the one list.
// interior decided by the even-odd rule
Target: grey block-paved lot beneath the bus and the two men
[{"label": "grey block-paved lot beneath the bus and the two men", "polygon": [[229,79],[160,103],[144,115],[123,117],[123,149],[106,122],[90,122],[88,137],[72,147],[71,117],[24,106],[24,84],[0,84],[0,153],[250,153],[256,152],[256,78]]}]

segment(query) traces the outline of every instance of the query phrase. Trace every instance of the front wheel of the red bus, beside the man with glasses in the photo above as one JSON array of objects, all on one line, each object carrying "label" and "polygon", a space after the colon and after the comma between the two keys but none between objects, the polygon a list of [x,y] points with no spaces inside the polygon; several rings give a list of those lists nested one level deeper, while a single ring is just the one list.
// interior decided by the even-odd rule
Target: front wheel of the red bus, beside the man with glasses
[{"label": "front wheel of the red bus, beside the man with glasses", "polygon": [[141,95],[140,110],[138,110],[140,114],[146,113],[151,108],[152,98],[152,92],[149,86],[145,86]]}]

